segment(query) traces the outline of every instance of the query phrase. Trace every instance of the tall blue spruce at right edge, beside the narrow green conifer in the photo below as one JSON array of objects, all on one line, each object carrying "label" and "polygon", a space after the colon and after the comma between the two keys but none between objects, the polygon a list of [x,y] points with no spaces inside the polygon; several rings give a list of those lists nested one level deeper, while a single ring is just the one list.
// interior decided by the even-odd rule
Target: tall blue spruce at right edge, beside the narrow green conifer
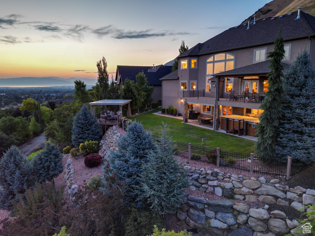
[{"label": "tall blue spruce at right edge, beside the narrow green conifer", "polygon": [[315,71],[308,51],[297,56],[284,74],[283,118],[277,154],[310,163],[315,160]]}]

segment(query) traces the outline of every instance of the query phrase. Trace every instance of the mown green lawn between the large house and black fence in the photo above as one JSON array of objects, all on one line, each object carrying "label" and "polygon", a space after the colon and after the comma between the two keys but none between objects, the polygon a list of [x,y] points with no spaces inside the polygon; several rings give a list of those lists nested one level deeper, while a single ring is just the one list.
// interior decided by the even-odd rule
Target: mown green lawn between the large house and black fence
[{"label": "mown green lawn between the large house and black fence", "polygon": [[[158,135],[162,121],[169,127],[169,133],[173,140],[184,143],[201,145],[202,139],[205,146],[221,148],[222,150],[242,152],[250,154],[254,149],[254,141],[239,138],[229,134],[216,132],[201,127],[181,123],[183,120],[167,116],[153,115],[157,109],[131,117],[132,120],[141,121],[146,130]],[[130,117],[129,117],[130,118]]]}]

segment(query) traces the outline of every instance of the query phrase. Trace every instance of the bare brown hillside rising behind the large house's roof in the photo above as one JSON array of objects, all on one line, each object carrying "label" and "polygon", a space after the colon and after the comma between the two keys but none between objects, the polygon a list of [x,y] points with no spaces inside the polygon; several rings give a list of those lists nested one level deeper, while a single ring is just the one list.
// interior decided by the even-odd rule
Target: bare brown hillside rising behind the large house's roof
[{"label": "bare brown hillside rising behind the large house's roof", "polygon": [[250,20],[254,21],[254,15],[256,15],[256,20],[261,20],[267,17],[275,17],[290,12],[297,11],[297,8],[301,7],[302,11],[315,16],[315,1],[314,0],[273,0],[266,3],[262,8],[259,8],[254,14],[249,18],[244,20],[241,24],[245,24]]}]

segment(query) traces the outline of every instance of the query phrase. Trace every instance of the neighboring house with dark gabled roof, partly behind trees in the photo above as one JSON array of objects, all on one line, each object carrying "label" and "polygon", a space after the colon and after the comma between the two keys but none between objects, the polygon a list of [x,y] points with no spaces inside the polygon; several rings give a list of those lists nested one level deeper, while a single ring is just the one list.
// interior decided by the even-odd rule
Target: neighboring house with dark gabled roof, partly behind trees
[{"label": "neighboring house with dark gabled roof, partly behind trees", "polygon": [[133,65],[117,65],[116,79],[117,85],[124,84],[126,78],[136,82],[136,75],[139,72],[146,76],[148,85],[153,86],[154,90],[152,98],[154,101],[162,98],[162,82],[160,78],[171,73],[171,65],[156,65],[156,66],[133,66]]}]

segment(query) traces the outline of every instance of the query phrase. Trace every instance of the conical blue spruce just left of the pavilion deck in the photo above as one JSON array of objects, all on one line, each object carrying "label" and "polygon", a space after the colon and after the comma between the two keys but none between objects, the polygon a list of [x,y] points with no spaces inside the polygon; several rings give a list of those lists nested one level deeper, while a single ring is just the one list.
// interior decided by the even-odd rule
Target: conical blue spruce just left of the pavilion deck
[{"label": "conical blue spruce just left of the pavilion deck", "polygon": [[83,105],[81,110],[73,118],[72,126],[72,143],[75,147],[80,146],[80,143],[89,140],[99,140],[102,135],[100,125],[97,123],[97,118],[86,105]]}]

